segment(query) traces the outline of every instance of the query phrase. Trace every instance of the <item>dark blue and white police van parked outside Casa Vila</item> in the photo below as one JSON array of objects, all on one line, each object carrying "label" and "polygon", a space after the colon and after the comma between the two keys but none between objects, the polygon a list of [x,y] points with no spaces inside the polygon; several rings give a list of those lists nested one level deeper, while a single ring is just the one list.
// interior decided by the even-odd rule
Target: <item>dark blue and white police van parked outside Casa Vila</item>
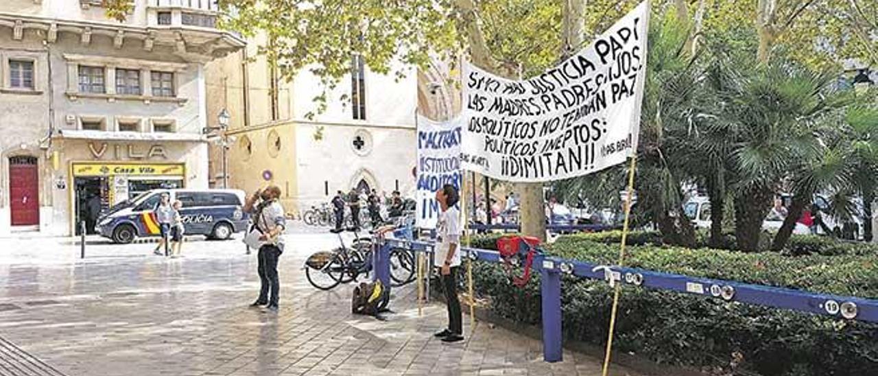
[{"label": "dark blue and white police van parked outside Casa Vila", "polygon": [[112,206],[97,220],[97,231],[121,244],[133,242],[136,237],[159,236],[155,208],[162,194],[169,195],[171,203],[183,203],[180,215],[186,235],[226,240],[247,229],[249,216],[243,211],[245,198],[241,190],[157,189]]}]

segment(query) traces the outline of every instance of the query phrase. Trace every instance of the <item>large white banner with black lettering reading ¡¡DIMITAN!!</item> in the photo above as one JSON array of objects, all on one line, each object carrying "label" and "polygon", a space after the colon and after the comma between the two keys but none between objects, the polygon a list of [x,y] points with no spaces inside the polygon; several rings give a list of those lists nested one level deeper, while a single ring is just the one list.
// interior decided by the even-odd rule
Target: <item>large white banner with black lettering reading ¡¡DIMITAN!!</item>
[{"label": "large white banner with black lettering reading \u00a1\u00a1DIMITAN!!", "polygon": [[524,80],[464,63],[464,169],[545,182],[587,175],[634,155],[648,22],[644,1],[579,53]]}]

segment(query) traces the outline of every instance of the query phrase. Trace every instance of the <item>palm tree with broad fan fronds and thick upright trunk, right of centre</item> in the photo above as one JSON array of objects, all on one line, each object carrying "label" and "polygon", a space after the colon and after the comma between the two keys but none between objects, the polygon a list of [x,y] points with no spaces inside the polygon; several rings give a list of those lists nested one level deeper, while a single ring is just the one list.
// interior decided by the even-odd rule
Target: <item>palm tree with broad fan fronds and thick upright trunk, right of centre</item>
[{"label": "palm tree with broad fan fronds and thick upright trunk, right of centre", "polygon": [[[734,60],[732,60],[734,61]],[[816,121],[829,106],[829,75],[772,61],[735,61],[717,93],[713,131],[729,142],[738,247],[759,249],[762,221],[775,192],[802,161],[820,150]],[[794,223],[795,224],[795,223]]]}]

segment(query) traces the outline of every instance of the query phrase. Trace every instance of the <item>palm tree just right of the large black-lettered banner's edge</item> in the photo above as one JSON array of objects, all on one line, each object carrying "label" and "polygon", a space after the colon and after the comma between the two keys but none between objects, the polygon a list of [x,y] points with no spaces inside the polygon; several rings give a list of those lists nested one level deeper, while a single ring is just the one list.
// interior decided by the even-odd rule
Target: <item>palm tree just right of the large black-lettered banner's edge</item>
[{"label": "palm tree just right of the large black-lettered banner's edge", "polygon": [[687,53],[688,31],[673,15],[651,30],[637,148],[638,202],[665,242],[694,246],[692,223],[682,212],[681,184],[690,180],[686,129],[699,98],[702,69]]}]

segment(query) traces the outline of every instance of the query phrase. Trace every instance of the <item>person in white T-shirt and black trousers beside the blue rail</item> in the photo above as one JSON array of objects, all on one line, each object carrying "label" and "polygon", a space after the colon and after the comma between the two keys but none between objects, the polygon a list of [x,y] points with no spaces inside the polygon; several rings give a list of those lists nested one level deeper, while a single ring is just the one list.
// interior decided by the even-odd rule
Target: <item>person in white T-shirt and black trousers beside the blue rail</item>
[{"label": "person in white T-shirt and black trousers beside the blue rail", "polygon": [[440,265],[445,300],[448,302],[448,328],[436,333],[443,342],[464,340],[464,318],[457,298],[457,270],[460,269],[460,195],[454,185],[445,184],[436,192],[442,213],[436,227],[435,264]]}]

